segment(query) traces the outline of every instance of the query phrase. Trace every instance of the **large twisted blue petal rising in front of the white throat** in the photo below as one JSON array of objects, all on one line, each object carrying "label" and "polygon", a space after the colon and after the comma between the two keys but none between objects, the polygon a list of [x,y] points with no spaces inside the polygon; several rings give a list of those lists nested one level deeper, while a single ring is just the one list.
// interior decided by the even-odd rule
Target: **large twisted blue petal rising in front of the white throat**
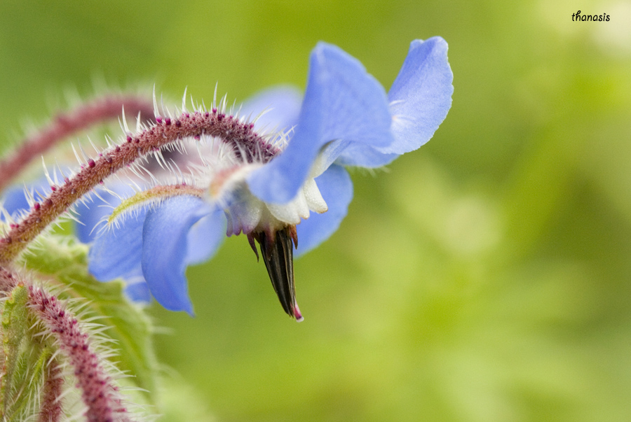
[{"label": "large twisted blue petal rising in front of the white throat", "polygon": [[391,122],[379,82],[340,48],[318,43],[296,133],[280,156],[250,174],[250,190],[264,202],[289,202],[326,143],[342,139],[386,147],[393,142]]}]

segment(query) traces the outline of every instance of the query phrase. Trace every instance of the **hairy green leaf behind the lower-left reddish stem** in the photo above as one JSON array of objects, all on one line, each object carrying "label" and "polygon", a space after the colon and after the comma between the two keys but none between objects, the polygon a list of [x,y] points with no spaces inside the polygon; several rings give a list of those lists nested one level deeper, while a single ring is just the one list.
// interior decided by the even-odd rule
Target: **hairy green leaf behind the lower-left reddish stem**
[{"label": "hairy green leaf behind the lower-left reddish stem", "polygon": [[[88,273],[88,246],[74,238],[49,234],[20,258],[27,269],[39,273],[48,286],[60,287],[61,299],[83,298],[81,318],[96,317],[105,329],[100,335],[113,339],[118,349],[115,364],[135,377],[135,384],[156,391],[156,358],[149,318],[123,294],[123,282],[101,283]],[[154,402],[147,393],[147,399]]]}]

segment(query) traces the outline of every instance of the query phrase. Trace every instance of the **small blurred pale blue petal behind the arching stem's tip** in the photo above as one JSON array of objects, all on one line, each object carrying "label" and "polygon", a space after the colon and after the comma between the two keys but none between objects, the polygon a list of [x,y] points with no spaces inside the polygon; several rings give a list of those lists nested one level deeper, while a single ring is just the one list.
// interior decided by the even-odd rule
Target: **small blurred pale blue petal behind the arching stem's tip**
[{"label": "small blurred pale blue petal behind the arching stem's tip", "polygon": [[289,85],[281,85],[259,92],[248,99],[241,106],[240,115],[252,115],[256,118],[259,113],[266,111],[256,122],[260,129],[289,129],[298,122],[302,93]]}]

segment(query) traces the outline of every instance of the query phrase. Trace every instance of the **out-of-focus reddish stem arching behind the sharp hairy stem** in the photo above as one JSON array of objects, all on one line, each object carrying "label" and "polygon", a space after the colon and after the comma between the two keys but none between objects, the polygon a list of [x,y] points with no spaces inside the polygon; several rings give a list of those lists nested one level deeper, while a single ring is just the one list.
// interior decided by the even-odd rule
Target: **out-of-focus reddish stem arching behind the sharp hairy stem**
[{"label": "out-of-focus reddish stem arching behind the sharp hairy stem", "polygon": [[135,116],[140,112],[143,121],[151,119],[154,114],[151,101],[122,95],[96,99],[72,111],[59,114],[39,132],[23,139],[12,155],[0,161],[0,190],[4,190],[34,158],[40,157],[46,150],[74,132],[120,116],[123,106],[128,115]]}]

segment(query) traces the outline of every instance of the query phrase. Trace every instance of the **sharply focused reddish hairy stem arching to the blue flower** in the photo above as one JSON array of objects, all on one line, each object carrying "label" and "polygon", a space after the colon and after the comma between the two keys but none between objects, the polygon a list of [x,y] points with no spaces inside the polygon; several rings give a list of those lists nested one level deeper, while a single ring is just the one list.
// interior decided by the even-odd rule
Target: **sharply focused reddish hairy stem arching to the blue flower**
[{"label": "sharply focused reddish hairy stem arching to the blue flower", "polygon": [[[11,230],[0,239],[0,265],[6,265],[42,232],[55,218],[66,211],[77,199],[90,192],[98,183],[137,158],[157,151],[169,143],[208,135],[222,139],[233,146],[244,160],[257,157],[269,161],[278,149],[253,130],[254,125],[241,122],[238,118],[212,111],[182,113],[179,118],[156,118],[157,122],[137,134],[128,134],[126,141],[99,154],[96,160],[88,160],[81,171],[66,179],[41,203],[36,203],[20,223],[11,225]],[[244,156],[245,155],[245,156]]]}]

